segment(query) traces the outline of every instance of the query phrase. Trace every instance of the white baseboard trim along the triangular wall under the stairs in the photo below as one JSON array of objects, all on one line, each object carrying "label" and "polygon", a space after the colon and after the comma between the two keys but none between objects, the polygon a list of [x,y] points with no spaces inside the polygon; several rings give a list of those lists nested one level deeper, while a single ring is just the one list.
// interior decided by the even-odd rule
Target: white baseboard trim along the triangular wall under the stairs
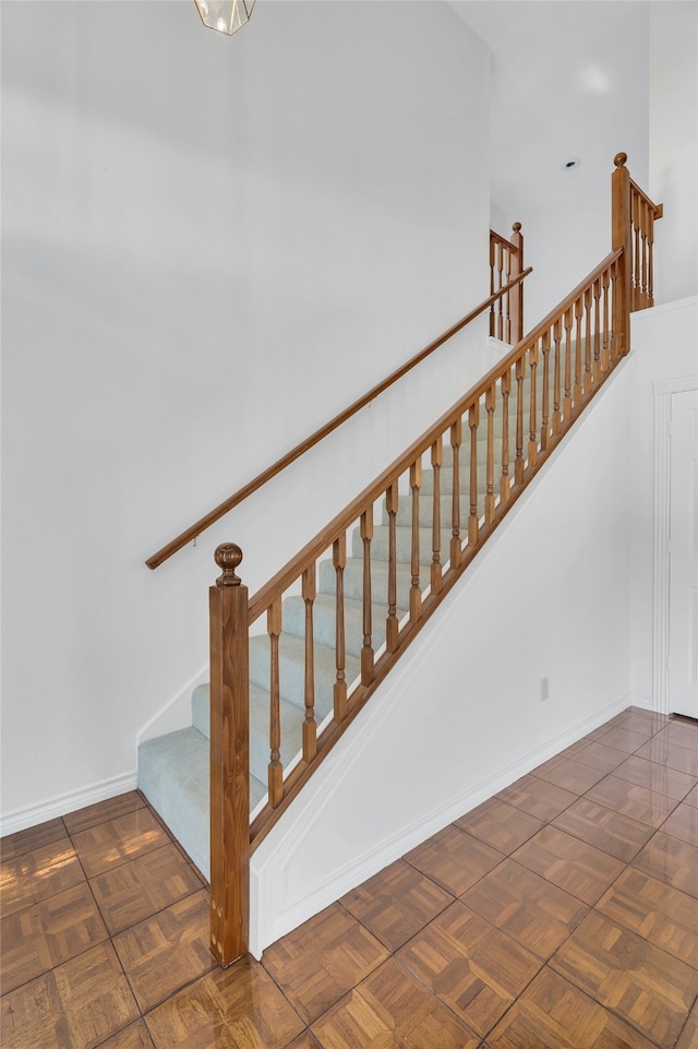
[{"label": "white baseboard trim along the triangular wall under the stairs", "polygon": [[[398,691],[399,690],[396,690],[396,694]],[[341,870],[333,873],[325,882],[313,886],[312,891],[308,894],[297,897],[276,921],[269,921],[268,916],[274,914],[275,909],[272,906],[273,898],[279,899],[287,898],[288,896],[287,889],[284,885],[285,863],[282,861],[279,863],[279,855],[284,857],[284,854],[288,855],[291,850],[294,851],[298,847],[298,837],[294,836],[292,839],[289,838],[285,843],[279,844],[274,853],[269,855],[267,861],[262,862],[256,870],[253,866],[250,871],[250,953],[260,959],[263,951],[270,943],[275,943],[292,929],[302,925],[303,921],[306,921],[313,917],[313,915],[318,914],[325,907],[335,903],[335,901],[339,899],[345,893],[362,884],[368,878],[373,877],[373,874],[383,870],[389,863],[395,862],[401,856],[405,856],[406,853],[409,853],[410,849],[421,845],[422,842],[425,842],[433,834],[436,834],[449,823],[453,823],[454,820],[459,819],[467,812],[470,812],[471,809],[482,804],[488,798],[508,787],[532,768],[553,758],[559,753],[561,750],[569,747],[582,736],[599,728],[610,718],[633,705],[645,704],[640,704],[638,698],[631,693],[626,693],[603,711],[597,712],[594,715],[579,722],[574,728],[567,729],[565,732],[549,740],[542,747],[530,751],[514,764],[481,780],[477,786],[464,791],[462,795],[450,798],[446,804],[434,809],[426,818],[417,821],[411,826],[402,829],[398,834],[386,837],[378,848],[370,849],[363,855],[352,858],[350,863],[345,865]],[[389,707],[390,704],[385,704],[383,717],[389,717]],[[376,730],[375,722],[371,728],[373,731]],[[354,740],[352,753],[357,753],[359,750],[360,742],[359,740]],[[344,780],[350,775],[353,762],[351,760],[347,761],[346,759],[347,755],[345,754],[342,765],[334,770],[333,780],[335,783],[337,783],[337,780]],[[323,804],[322,800],[318,801],[317,798],[313,799],[312,803],[314,811],[316,811],[318,804]],[[275,879],[275,884],[269,878],[260,878],[260,874],[264,871],[268,862],[274,862],[276,867],[277,878]]]}]

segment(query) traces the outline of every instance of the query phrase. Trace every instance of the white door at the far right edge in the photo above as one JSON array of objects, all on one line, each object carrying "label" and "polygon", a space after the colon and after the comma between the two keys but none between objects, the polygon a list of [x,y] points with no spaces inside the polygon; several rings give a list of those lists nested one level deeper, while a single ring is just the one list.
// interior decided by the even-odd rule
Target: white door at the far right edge
[{"label": "white door at the far right edge", "polygon": [[698,718],[698,391],[672,394],[670,710]]}]

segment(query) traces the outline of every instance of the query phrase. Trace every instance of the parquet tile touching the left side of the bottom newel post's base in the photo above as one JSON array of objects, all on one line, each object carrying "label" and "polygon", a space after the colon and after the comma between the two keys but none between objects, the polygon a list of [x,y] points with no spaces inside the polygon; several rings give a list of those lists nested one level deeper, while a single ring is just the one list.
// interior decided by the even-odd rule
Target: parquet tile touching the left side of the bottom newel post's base
[{"label": "parquet tile touching the left side of the bottom newel post's base", "polygon": [[113,944],[143,1012],[208,973],[208,893],[185,896],[115,937]]}]

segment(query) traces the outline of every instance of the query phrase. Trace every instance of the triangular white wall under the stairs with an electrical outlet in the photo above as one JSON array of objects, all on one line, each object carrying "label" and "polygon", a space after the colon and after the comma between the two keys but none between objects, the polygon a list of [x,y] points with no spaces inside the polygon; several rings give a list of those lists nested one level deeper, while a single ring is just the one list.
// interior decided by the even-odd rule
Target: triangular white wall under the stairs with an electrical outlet
[{"label": "triangular white wall under the stairs with an electrical outlet", "polygon": [[631,374],[618,367],[253,855],[256,956],[633,702]]}]

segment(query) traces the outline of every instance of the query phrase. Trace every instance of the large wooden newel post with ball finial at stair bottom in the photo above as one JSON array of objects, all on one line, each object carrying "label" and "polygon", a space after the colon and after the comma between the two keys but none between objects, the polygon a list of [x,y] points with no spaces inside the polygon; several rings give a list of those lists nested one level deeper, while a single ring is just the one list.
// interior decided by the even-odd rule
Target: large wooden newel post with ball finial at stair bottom
[{"label": "large wooden newel post with ball finial at stair bottom", "polygon": [[250,675],[242,550],[224,543],[210,615],[210,949],[220,965],[248,951],[250,911]]}]

